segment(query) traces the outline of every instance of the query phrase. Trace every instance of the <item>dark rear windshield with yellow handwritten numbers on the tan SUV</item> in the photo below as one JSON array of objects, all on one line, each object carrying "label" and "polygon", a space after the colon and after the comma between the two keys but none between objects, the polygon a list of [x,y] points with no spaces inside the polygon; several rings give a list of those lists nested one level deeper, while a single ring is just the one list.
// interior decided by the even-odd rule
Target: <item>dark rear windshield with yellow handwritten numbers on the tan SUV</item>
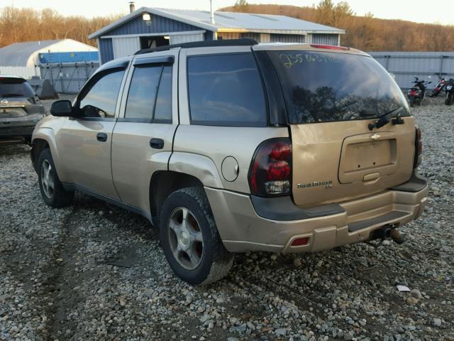
[{"label": "dark rear windshield with yellow handwritten numbers on the tan SUV", "polygon": [[399,109],[402,91],[370,57],[346,53],[270,51],[286,97],[289,123],[370,119]]}]

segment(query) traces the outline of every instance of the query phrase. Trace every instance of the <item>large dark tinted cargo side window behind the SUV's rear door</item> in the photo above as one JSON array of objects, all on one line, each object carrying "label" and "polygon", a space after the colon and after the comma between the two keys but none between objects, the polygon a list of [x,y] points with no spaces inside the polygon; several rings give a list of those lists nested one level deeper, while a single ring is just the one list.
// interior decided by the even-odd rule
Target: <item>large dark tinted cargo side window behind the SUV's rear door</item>
[{"label": "large dark tinted cargo side window behind the SUV's rear door", "polygon": [[266,126],[267,107],[252,53],[188,58],[192,124]]}]

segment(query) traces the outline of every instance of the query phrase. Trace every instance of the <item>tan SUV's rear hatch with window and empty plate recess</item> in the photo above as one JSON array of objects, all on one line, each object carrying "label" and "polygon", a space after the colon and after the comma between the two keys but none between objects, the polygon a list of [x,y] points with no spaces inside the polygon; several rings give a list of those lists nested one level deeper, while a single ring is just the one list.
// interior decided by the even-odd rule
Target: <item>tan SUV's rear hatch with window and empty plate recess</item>
[{"label": "tan SUV's rear hatch with window and empty plate recess", "polygon": [[[415,126],[402,91],[367,55],[272,50],[292,135],[297,205],[340,202],[409,180]],[[397,110],[396,110],[397,109]],[[369,124],[389,112],[404,124]]]}]

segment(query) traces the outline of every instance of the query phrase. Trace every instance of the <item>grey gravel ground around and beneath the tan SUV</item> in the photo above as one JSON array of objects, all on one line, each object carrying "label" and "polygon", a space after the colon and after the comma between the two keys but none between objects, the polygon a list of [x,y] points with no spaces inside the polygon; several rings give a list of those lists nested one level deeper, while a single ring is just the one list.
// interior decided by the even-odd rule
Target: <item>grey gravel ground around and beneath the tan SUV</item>
[{"label": "grey gravel ground around and beneath the tan SUV", "polygon": [[28,146],[0,146],[0,340],[454,340],[454,107],[414,114],[431,192],[405,244],[238,255],[196,288],[143,217],[80,194],[52,210]]}]

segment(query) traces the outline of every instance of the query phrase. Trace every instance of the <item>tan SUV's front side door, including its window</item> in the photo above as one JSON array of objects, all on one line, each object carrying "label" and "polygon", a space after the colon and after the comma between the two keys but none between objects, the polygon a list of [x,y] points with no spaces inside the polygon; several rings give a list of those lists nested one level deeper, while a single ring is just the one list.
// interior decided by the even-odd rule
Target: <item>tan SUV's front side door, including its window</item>
[{"label": "tan SUV's front side door, including its window", "polygon": [[116,200],[111,142],[127,65],[119,63],[94,75],[74,104],[77,117],[67,119],[59,133],[62,158],[72,183]]}]

